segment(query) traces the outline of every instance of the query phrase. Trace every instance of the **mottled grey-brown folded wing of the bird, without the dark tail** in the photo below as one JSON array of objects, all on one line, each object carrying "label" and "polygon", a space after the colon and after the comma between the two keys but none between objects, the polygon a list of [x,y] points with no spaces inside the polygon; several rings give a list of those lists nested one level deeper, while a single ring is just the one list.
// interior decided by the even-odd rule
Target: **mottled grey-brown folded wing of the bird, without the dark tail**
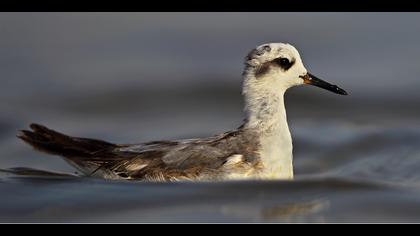
[{"label": "mottled grey-brown folded wing of the bird, without the dark tail", "polygon": [[226,171],[233,171],[233,167],[244,171],[258,166],[256,148],[250,141],[237,130],[206,139],[127,146],[117,151],[136,153],[136,156],[119,161],[110,169],[128,179],[218,179],[223,178]]}]

